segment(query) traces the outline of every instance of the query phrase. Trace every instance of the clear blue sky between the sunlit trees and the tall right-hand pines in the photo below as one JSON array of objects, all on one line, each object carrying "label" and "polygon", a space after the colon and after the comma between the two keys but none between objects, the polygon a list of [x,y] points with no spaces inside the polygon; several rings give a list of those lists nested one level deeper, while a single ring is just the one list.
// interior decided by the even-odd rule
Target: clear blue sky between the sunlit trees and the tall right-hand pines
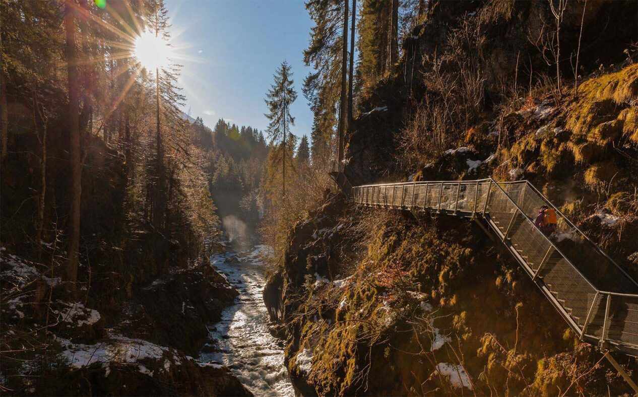
[{"label": "clear blue sky between the sunlit trees and the tall right-hand pines", "polygon": [[176,47],[189,60],[179,81],[191,117],[213,127],[220,117],[265,130],[263,98],[281,61],[292,65],[299,94],[292,132],[310,135],[313,116],[301,93],[310,71],[302,51],[312,21],[302,0],[166,0]]}]

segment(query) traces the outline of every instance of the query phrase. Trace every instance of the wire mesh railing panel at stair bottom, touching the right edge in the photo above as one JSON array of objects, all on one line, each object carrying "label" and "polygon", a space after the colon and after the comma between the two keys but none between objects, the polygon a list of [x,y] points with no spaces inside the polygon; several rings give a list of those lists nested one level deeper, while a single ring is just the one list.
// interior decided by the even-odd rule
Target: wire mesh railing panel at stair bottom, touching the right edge
[{"label": "wire mesh railing panel at stair bottom, touching the right edge", "polygon": [[638,297],[611,296],[607,338],[638,345]]}]

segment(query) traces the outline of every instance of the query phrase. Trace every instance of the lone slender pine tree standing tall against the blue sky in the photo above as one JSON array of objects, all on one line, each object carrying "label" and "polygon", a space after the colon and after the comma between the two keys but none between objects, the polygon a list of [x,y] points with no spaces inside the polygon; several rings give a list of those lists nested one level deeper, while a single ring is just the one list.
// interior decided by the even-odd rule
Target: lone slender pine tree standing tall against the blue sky
[{"label": "lone slender pine tree standing tall against the blue sky", "polygon": [[[265,116],[270,120],[268,137],[274,145],[275,161],[281,162],[282,197],[286,196],[286,138],[290,133],[290,126],[295,125],[295,119],[290,115],[290,105],[297,99],[297,91],[293,87],[290,65],[283,61],[275,71],[274,84],[266,94],[266,105],[269,113]],[[279,160],[281,159],[281,160]]]}]

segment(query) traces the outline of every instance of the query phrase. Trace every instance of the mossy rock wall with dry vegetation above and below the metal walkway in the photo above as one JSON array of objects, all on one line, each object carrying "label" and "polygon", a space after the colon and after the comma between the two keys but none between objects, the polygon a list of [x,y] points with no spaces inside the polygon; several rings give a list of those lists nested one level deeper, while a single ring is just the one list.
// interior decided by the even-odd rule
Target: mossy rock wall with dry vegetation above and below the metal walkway
[{"label": "mossy rock wall with dry vegetation above and below the metal walkway", "polygon": [[[549,3],[431,3],[394,68],[362,85],[351,183],[528,179],[638,274],[636,4],[568,6],[559,86]],[[469,220],[331,196],[290,231],[264,299],[304,394],[631,391]]]}]

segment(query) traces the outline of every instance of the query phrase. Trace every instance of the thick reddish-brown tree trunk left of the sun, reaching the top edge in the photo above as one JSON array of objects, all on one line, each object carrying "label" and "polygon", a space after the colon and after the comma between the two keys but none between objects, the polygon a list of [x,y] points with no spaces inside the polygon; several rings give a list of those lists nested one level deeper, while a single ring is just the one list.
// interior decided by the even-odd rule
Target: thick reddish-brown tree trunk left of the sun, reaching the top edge
[{"label": "thick reddish-brown tree trunk left of the sun, reaching the top edge", "polygon": [[78,273],[78,251],[80,248],[80,197],[82,195],[82,168],[80,165],[80,105],[78,102],[78,70],[75,50],[75,11],[73,0],[68,0],[64,15],[66,31],[66,63],[69,86],[69,147],[71,157],[71,241],[69,244],[69,260],[66,265],[67,288],[76,290]]}]

